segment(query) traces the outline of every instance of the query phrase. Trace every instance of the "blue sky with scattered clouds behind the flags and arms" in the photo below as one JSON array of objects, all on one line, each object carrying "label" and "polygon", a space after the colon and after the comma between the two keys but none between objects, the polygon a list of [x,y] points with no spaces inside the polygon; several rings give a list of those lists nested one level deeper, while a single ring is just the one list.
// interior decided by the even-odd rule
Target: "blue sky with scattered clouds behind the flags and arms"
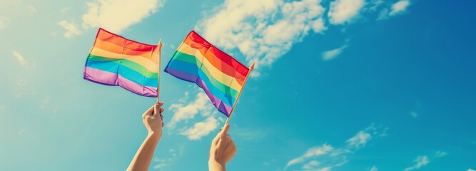
[{"label": "blue sky with scattered clouds behind the flags and arms", "polygon": [[[258,65],[231,118],[229,170],[475,170],[476,19],[465,1],[0,1],[2,170],[125,170],[155,102],[84,81],[98,26],[163,40],[195,29]],[[206,170],[226,116],[163,73],[150,170]]]}]

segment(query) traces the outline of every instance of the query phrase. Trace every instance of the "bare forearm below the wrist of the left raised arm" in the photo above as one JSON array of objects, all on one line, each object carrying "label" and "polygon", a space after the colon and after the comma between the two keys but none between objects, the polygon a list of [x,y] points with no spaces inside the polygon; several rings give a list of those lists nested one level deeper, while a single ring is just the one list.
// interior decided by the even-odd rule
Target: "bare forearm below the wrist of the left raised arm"
[{"label": "bare forearm below the wrist of the left raised arm", "polygon": [[139,150],[137,150],[136,155],[131,161],[131,164],[129,164],[127,170],[148,170],[149,165],[151,165],[153,152],[156,151],[156,147],[160,139],[161,135],[158,134],[152,133],[147,135],[146,140],[142,142],[141,147],[139,147]]}]

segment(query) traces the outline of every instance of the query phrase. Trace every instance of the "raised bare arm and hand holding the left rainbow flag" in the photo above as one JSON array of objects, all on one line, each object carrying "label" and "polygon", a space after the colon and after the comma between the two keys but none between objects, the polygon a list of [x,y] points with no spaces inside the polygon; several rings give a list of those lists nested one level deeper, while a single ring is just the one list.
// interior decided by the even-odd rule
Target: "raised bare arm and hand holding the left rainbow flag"
[{"label": "raised bare arm and hand holding the left rainbow flag", "polygon": [[142,115],[142,120],[144,125],[146,125],[148,135],[146,140],[142,142],[142,145],[141,147],[139,147],[139,150],[137,150],[136,155],[132,159],[131,164],[129,164],[127,170],[148,170],[149,165],[151,165],[153,152],[156,151],[158,141],[161,140],[162,137],[162,105],[163,103],[156,103],[156,105],[153,105],[146,111],[146,113]]}]

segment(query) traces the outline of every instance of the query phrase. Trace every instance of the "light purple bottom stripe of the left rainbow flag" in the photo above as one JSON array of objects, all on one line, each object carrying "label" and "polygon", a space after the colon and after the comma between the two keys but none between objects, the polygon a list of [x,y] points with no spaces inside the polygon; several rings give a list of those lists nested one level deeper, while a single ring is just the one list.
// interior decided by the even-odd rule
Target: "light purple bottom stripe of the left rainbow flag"
[{"label": "light purple bottom stripe of the left rainbow flag", "polygon": [[84,68],[84,79],[94,83],[101,83],[106,86],[121,86],[122,88],[147,97],[157,97],[157,89],[154,87],[142,86],[138,83],[123,78],[116,73],[98,70],[96,68]]}]

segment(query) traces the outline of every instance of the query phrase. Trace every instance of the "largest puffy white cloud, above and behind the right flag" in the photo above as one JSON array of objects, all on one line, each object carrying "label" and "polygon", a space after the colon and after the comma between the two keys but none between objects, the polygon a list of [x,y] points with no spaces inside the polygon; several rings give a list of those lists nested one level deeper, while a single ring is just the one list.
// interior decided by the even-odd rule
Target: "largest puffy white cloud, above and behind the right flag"
[{"label": "largest puffy white cloud, above and behind the right flag", "polygon": [[196,29],[216,46],[240,51],[248,63],[270,66],[311,30],[326,29],[324,10],[320,0],[227,0]]}]

